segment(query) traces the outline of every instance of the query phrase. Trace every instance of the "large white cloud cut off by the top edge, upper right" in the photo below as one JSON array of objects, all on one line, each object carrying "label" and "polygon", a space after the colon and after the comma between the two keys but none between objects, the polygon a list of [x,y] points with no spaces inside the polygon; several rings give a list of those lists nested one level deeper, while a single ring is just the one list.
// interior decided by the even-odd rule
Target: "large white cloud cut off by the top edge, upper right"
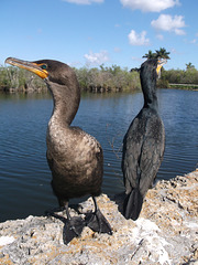
[{"label": "large white cloud cut off by the top edge, upper right", "polygon": [[161,12],[167,8],[179,4],[179,0],[120,0],[123,7],[132,10],[140,9],[143,12]]}]

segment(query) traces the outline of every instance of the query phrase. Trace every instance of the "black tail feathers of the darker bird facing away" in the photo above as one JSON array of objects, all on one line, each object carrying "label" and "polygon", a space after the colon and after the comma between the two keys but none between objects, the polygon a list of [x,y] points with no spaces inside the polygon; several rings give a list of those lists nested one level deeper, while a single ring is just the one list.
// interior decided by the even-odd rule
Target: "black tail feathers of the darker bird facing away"
[{"label": "black tail feathers of the darker bird facing away", "polygon": [[142,210],[143,195],[139,189],[133,189],[124,200],[124,216],[125,219],[136,220]]}]

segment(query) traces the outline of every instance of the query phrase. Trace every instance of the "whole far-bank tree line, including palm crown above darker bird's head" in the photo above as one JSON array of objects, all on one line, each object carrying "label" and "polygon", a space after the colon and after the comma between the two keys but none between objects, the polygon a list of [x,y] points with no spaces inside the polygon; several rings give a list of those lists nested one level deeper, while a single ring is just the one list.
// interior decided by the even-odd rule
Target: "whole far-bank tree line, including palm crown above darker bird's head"
[{"label": "whole far-bank tree line, including palm crown above darker bird's head", "polygon": [[[161,47],[155,52],[148,51],[145,59],[169,60],[169,52]],[[105,67],[80,67],[74,68],[81,91],[86,92],[129,92],[141,89],[139,68],[121,68],[118,65]],[[186,70],[164,70],[157,86],[168,88],[172,84],[198,85],[198,71],[191,63],[186,64]],[[46,91],[45,83],[29,71],[9,66],[0,67],[0,91],[3,92],[31,92]]]}]

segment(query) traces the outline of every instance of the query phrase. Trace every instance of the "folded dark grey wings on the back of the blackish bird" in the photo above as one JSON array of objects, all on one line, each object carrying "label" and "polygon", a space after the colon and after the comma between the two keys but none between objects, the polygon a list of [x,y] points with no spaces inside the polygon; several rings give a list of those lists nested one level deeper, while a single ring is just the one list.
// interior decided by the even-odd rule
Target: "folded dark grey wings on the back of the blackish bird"
[{"label": "folded dark grey wings on the back of the blackish bird", "polygon": [[142,195],[152,186],[164,153],[164,126],[158,116],[138,115],[123,140],[122,171],[127,193],[139,188]]}]

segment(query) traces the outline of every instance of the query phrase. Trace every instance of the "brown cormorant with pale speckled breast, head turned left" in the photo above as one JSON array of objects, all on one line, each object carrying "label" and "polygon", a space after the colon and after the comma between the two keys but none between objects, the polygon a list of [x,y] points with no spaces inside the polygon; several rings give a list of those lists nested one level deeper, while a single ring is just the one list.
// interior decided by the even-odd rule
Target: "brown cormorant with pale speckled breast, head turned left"
[{"label": "brown cormorant with pale speckled breast, head turned left", "polygon": [[47,127],[46,156],[53,176],[53,191],[59,205],[66,209],[68,236],[72,240],[82,230],[81,227],[79,232],[79,227],[75,227],[76,222],[70,218],[68,201],[86,194],[91,194],[95,203],[95,212],[87,225],[94,231],[111,234],[111,227],[95,199],[101,193],[102,148],[92,136],[79,127],[70,126],[80,102],[80,89],[75,72],[68,65],[53,60],[26,62],[9,57],[6,63],[35,73],[45,81],[52,93],[54,108]]}]

